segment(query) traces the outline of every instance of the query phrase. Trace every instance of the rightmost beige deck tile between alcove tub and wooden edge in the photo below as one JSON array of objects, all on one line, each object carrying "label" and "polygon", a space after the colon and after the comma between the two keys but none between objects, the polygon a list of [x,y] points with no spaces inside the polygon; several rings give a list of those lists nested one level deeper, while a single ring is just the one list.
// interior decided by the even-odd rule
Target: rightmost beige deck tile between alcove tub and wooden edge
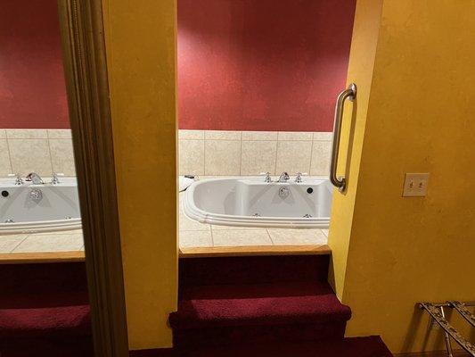
[{"label": "rightmost beige deck tile between alcove tub and wooden edge", "polygon": [[274,245],[326,245],[321,229],[267,229]]}]

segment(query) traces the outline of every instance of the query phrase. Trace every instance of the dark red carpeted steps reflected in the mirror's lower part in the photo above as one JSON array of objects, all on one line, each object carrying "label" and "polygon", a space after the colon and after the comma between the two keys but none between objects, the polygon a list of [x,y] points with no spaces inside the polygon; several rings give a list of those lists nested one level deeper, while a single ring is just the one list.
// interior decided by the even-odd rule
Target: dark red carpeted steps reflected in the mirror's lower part
[{"label": "dark red carpeted steps reflected in the mirror's lower part", "polygon": [[0,355],[92,355],[85,264],[0,265]]}]

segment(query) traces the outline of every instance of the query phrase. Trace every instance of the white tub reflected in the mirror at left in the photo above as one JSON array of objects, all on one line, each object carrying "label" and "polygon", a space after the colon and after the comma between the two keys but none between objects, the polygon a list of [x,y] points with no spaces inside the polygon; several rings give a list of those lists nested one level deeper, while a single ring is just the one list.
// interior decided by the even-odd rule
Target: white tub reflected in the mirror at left
[{"label": "white tub reflected in the mirror at left", "polygon": [[52,185],[0,179],[0,235],[81,228],[78,186],[74,178]]}]

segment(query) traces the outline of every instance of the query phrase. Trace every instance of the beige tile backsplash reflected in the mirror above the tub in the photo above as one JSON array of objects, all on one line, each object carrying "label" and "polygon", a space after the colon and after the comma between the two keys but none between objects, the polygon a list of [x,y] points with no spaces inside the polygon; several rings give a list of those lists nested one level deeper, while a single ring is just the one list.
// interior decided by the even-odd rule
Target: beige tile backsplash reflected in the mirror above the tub
[{"label": "beige tile backsplash reflected in the mirror above the tub", "polygon": [[0,129],[0,177],[33,171],[76,175],[70,129]]}]

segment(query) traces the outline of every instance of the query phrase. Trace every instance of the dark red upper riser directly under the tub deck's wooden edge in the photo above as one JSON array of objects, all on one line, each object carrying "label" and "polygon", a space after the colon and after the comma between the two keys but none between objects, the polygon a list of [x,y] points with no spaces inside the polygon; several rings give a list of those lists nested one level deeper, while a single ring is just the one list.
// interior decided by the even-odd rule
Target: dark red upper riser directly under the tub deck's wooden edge
[{"label": "dark red upper riser directly under the tub deck's wooden edge", "polygon": [[326,281],[329,255],[280,255],[180,259],[180,287]]}]

